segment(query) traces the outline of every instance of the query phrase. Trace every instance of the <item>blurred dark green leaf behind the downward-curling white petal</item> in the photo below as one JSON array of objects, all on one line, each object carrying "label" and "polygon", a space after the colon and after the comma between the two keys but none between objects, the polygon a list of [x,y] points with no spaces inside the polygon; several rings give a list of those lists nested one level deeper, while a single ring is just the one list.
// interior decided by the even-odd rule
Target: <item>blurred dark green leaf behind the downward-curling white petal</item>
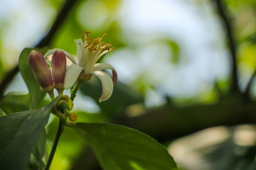
[{"label": "blurred dark green leaf behind the downward-curling white petal", "polygon": [[101,111],[107,115],[114,115],[117,111],[122,111],[127,106],[144,102],[144,98],[137,92],[130,89],[127,85],[117,82],[111,97],[103,102],[99,102],[102,93],[102,84],[100,79],[92,78],[84,82],[81,86],[81,92],[92,97],[100,106]]}]

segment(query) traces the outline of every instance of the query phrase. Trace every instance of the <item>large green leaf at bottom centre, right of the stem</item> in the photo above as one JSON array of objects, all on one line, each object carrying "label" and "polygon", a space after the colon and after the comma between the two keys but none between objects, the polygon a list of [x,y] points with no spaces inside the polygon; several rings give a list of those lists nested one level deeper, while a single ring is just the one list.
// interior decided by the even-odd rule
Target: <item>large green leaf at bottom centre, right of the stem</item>
[{"label": "large green leaf at bottom centre, right of the stem", "polygon": [[150,136],[121,125],[76,123],[105,170],[176,170],[166,148]]}]

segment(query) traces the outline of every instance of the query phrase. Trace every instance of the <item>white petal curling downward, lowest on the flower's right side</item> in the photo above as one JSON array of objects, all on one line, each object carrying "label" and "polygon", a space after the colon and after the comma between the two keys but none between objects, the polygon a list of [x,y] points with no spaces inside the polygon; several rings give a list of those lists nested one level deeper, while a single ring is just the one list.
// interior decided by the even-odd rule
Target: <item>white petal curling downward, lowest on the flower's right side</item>
[{"label": "white petal curling downward, lowest on the flower's right side", "polygon": [[93,71],[90,74],[96,75],[98,78],[100,78],[102,83],[102,95],[100,98],[100,102],[107,100],[112,92],[113,92],[113,82],[108,73],[105,73],[103,71]]}]

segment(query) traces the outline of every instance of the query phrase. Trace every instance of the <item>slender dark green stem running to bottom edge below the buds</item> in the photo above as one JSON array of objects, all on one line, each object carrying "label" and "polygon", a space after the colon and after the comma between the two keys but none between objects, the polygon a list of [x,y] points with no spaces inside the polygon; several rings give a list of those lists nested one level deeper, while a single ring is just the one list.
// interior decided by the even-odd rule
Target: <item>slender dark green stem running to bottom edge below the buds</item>
[{"label": "slender dark green stem running to bottom edge below the buds", "polygon": [[51,149],[51,152],[50,152],[50,155],[49,155],[49,158],[48,158],[45,170],[49,170],[49,168],[51,166],[52,159],[53,159],[55,151],[57,149],[57,145],[58,145],[59,139],[60,139],[61,134],[62,134],[62,132],[64,130],[64,127],[65,127],[65,123],[66,123],[66,120],[63,121],[63,120],[60,119],[59,126],[58,126],[58,129],[57,129],[57,133],[56,133],[53,145],[52,145],[52,149]]}]

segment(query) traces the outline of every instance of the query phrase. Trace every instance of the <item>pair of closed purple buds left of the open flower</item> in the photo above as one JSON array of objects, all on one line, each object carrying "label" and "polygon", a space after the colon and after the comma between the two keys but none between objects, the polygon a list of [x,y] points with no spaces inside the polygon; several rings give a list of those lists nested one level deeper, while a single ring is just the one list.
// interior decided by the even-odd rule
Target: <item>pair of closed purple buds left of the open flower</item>
[{"label": "pair of closed purple buds left of the open flower", "polygon": [[44,56],[35,50],[31,51],[28,62],[43,92],[47,92],[54,99],[55,88],[59,95],[63,95],[66,56],[62,50],[56,50],[52,55],[52,73]]}]

